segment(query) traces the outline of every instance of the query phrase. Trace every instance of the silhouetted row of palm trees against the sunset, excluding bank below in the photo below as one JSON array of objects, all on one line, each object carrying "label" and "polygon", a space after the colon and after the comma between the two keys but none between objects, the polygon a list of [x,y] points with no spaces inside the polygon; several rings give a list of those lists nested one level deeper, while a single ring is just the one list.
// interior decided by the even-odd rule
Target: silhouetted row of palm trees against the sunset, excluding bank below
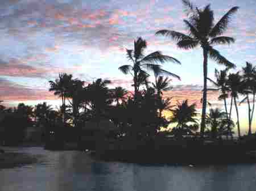
[{"label": "silhouetted row of palm trees against the sunset, excluding bank below", "polygon": [[[231,114],[233,104],[237,114],[238,136],[241,137],[238,106],[246,102],[248,105],[248,134],[251,135],[256,92],[255,66],[246,62],[246,66],[241,71],[230,73],[230,69],[234,69],[236,65],[213,47],[214,45],[234,43],[233,37],[223,36],[223,34],[228,29],[230,19],[237,12],[238,7],[232,7],[218,22],[214,23],[214,13],[210,9],[210,5],[200,8],[187,0],[182,2],[188,18],[184,20],[184,24],[189,33],[162,29],[155,35],[170,37],[181,49],[194,49],[197,46],[202,48],[204,86],[201,122],[198,120],[195,104],[189,105],[188,100],[184,100],[174,105],[171,98],[163,97],[164,91],[172,89],[171,78],[180,80],[179,75],[164,70],[163,63],[181,64],[181,62],[160,51],[145,55],[147,42],[142,37],[134,40],[133,49],[126,49],[127,60],[130,64],[119,67],[123,74],[131,75],[133,91],[129,92],[123,87],[109,88],[110,80],[97,79],[87,84],[80,79],[74,79],[71,74],[61,73],[57,79],[49,81],[49,91],[54,92],[54,95],[61,99],[58,111],[53,110],[46,103],[36,105],[34,110],[23,104],[32,112],[31,114],[27,113],[27,119],[34,117],[36,124],[44,126],[49,126],[49,124],[52,126],[74,126],[77,131],[77,139],[81,139],[80,132],[86,122],[93,121],[100,125],[102,119],[113,122],[119,128],[119,134],[135,137],[154,136],[160,128],[166,128],[169,124],[174,123],[172,134],[177,137],[195,134],[200,128],[202,138],[208,135],[212,138],[221,138],[222,135],[233,138],[235,126]],[[208,59],[225,66],[224,70],[215,70],[216,79],[208,78]],[[153,75],[154,82],[150,82],[150,75]],[[216,88],[208,88],[208,81]],[[218,99],[224,101],[225,111],[210,108],[207,113],[209,104],[207,91],[220,92]],[[238,95],[244,97],[242,101],[238,101]],[[230,108],[227,104],[228,99],[231,103]],[[2,112],[11,111],[14,114],[17,113],[19,107],[21,105],[13,109],[2,108]],[[171,116],[164,116],[163,111],[170,111]]]}]

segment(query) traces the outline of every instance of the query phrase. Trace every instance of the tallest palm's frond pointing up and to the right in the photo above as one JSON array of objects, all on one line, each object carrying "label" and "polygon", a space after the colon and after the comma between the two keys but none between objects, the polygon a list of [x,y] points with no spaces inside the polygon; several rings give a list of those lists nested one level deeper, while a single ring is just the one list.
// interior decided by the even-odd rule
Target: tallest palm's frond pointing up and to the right
[{"label": "tallest palm's frond pointing up and to the right", "polygon": [[212,28],[212,31],[210,31],[209,36],[216,37],[224,33],[228,27],[228,23],[230,22],[230,17],[236,13],[238,9],[239,7],[232,7],[232,9],[222,16],[218,23]]}]

